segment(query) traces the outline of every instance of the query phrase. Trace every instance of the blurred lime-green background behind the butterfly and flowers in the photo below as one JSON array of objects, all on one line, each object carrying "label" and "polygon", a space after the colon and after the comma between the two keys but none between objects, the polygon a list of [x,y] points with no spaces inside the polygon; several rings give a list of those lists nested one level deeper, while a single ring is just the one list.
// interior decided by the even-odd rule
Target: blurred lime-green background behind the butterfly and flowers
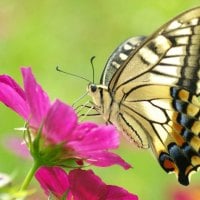
[{"label": "blurred lime-green background behind the butterfly and flowers", "polygon": [[[92,79],[90,57],[95,55],[98,83],[108,56],[118,44],[131,36],[149,35],[180,12],[198,5],[199,0],[1,0],[0,73],[22,83],[20,66],[32,66],[52,100],[60,98],[71,104],[85,92],[87,83],[56,72],[55,66]],[[0,105],[1,146],[4,137],[19,134],[13,128],[22,125],[23,120]],[[200,174],[195,174],[191,186],[180,186],[174,175],[160,168],[150,151],[138,150],[124,139],[118,152],[133,169],[94,169],[106,183],[123,186],[141,200],[173,199],[174,189],[189,191],[200,181]],[[30,160],[0,147],[1,172],[16,173],[20,182],[30,166]]]}]

